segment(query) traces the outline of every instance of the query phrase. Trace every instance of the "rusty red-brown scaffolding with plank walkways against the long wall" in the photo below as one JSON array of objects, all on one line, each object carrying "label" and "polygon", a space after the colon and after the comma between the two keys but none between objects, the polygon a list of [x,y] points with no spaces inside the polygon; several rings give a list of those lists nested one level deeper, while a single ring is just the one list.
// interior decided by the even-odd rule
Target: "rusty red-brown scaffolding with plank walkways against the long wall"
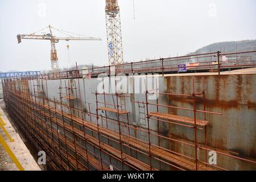
[{"label": "rusty red-brown scaffolding with plank walkways against the long wall", "polygon": [[[77,73],[78,71],[76,71]],[[127,100],[133,96],[126,93],[92,93],[96,103],[82,106],[79,74],[77,78],[60,79],[57,95],[50,96],[48,79],[44,77],[10,78],[2,81],[6,110],[34,154],[46,151],[48,167],[54,170],[226,170],[222,166],[209,164],[208,152],[216,151],[232,159],[256,164],[254,160],[220,152],[207,146],[206,114],[221,115],[205,110],[205,90],[197,91],[193,81],[192,93],[159,93],[146,90],[144,101],[133,101],[138,105],[141,125],[131,119]],[[117,83],[115,82],[115,88]],[[105,86],[105,85],[104,85]],[[148,100],[158,94],[191,98],[192,108],[159,104]],[[108,98],[112,98],[111,102]],[[53,98],[53,99],[51,99]],[[197,109],[198,98],[203,99],[204,109]],[[160,108],[186,110],[193,117],[163,113]],[[197,118],[197,113],[204,119]],[[156,123],[156,130],[152,125]],[[160,133],[160,125],[187,127],[193,132],[193,140],[184,141],[172,135]],[[204,141],[197,135],[204,133]],[[169,147],[160,140],[168,140]],[[179,143],[191,148],[191,155],[172,149]],[[205,157],[201,158],[201,152]],[[200,153],[200,154],[199,154]]]}]

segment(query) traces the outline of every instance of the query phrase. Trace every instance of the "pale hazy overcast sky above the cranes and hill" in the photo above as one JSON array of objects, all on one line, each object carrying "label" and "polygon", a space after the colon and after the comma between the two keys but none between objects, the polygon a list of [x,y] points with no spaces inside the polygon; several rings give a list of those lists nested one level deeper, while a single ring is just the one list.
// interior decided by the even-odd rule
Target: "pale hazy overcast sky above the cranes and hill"
[{"label": "pale hazy overcast sky above the cranes and hill", "polygon": [[[255,0],[118,0],[125,61],[183,55],[214,42],[256,39]],[[0,71],[51,69],[49,40],[22,40],[48,24],[102,41],[56,44],[61,68],[108,64],[105,0],[0,0]],[[45,32],[45,31],[44,31]],[[56,32],[56,36],[61,36]]]}]

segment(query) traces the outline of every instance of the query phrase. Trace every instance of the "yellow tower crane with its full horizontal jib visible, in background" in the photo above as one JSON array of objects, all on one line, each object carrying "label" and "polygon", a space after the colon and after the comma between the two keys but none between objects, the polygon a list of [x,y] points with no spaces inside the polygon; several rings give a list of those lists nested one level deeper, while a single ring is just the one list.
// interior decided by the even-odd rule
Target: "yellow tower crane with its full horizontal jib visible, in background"
[{"label": "yellow tower crane with its full horizontal jib visible, in background", "polygon": [[[37,32],[35,32],[33,34],[28,34],[28,35],[26,35],[26,34],[17,35],[17,39],[18,39],[18,43],[21,43],[21,39],[50,40],[51,41],[51,67],[52,67],[52,72],[56,72],[59,69],[59,61],[58,61],[57,51],[56,51],[56,46],[55,46],[55,43],[58,43],[59,40],[66,40],[66,41],[69,41],[69,40],[101,40],[101,38],[92,38],[92,37],[87,37],[87,36],[80,35],[80,34],[76,34],[76,35],[79,35],[80,37],[73,37],[69,34],[75,34],[75,33],[60,30],[58,28],[52,27],[51,25],[49,25],[46,28],[43,28],[42,30],[39,30],[39,31],[43,31],[47,28],[49,28],[49,33],[48,34],[36,35]],[[68,37],[53,36],[52,29],[56,30],[56,31],[59,31],[59,32],[62,32],[63,34],[68,35]]]}]

